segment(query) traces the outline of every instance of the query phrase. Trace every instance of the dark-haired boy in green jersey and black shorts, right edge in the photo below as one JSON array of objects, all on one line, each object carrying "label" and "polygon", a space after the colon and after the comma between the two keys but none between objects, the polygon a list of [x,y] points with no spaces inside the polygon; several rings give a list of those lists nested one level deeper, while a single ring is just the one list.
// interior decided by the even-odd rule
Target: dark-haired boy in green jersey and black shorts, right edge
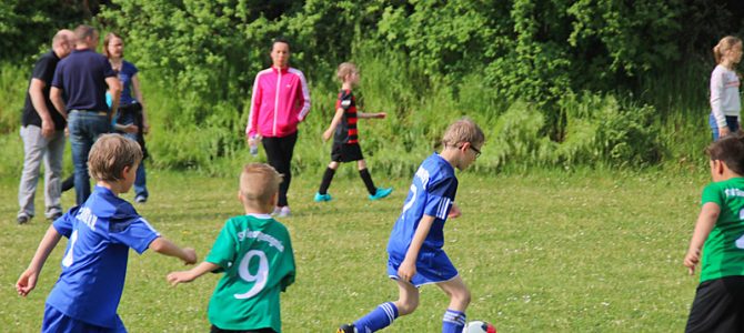
[{"label": "dark-haired boy in green jersey and black shorts, right edge", "polygon": [[706,152],[713,182],[684,259],[690,274],[705,251],[685,332],[744,332],[744,138],[724,137]]}]

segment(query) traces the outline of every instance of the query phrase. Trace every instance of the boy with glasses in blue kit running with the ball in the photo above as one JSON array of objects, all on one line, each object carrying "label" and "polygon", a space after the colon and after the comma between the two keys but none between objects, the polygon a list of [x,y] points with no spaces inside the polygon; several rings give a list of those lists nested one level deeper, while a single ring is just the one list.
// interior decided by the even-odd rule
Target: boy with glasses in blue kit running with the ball
[{"label": "boy with glasses in blue kit running with the ball", "polygon": [[390,234],[388,275],[398,283],[398,301],[383,303],[354,323],[341,325],[339,333],[375,332],[389,326],[398,316],[416,309],[419,287],[431,283],[450,296],[442,332],[462,332],[470,291],[442,250],[443,230],[448,218],[460,216],[454,204],[458,191],[454,168],[462,171],[473,163],[484,141],[483,131],[472,120],[462,119],[448,128],[442,152],[432,154],[419,167]]}]

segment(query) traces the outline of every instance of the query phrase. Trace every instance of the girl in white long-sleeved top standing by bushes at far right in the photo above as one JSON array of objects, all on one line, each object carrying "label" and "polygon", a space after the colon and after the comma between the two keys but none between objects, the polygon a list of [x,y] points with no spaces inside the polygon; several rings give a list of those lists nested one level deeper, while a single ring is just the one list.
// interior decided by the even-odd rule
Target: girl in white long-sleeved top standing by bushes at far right
[{"label": "girl in white long-sleeved top standing by bushes at far right", "polygon": [[726,36],[713,48],[717,63],[711,73],[711,117],[708,123],[713,141],[736,132],[741,123],[741,99],[736,64],[742,60],[742,40]]}]

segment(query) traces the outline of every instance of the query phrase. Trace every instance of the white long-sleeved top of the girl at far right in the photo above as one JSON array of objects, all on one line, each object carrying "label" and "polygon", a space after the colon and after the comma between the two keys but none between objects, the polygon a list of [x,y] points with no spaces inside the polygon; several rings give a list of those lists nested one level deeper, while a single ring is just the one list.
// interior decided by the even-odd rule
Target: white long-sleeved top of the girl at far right
[{"label": "white long-sleeved top of the girl at far right", "polygon": [[721,64],[711,73],[711,109],[718,128],[726,125],[726,115],[740,117],[738,75]]}]

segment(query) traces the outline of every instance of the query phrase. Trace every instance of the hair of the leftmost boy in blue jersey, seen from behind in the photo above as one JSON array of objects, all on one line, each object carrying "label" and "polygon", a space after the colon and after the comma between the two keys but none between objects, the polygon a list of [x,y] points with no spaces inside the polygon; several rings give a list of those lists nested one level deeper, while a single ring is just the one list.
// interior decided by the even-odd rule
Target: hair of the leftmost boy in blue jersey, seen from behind
[{"label": "hair of the leftmost boy in blue jersey, seen from behind", "polygon": [[88,154],[88,173],[97,181],[114,182],[122,179],[125,167],[142,161],[142,149],[134,140],[120,134],[103,134],[95,140]]}]

